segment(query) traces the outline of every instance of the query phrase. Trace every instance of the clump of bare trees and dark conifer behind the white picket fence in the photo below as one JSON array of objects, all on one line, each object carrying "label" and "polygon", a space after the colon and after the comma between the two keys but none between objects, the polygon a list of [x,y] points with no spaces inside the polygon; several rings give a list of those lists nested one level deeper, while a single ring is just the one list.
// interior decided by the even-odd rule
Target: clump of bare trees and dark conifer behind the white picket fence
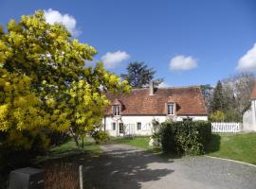
[{"label": "clump of bare trees and dark conifer behind the white picket fence", "polygon": [[210,113],[221,111],[225,113],[224,121],[242,122],[244,112],[250,107],[254,85],[255,76],[252,73],[241,73],[218,81],[210,95]]}]

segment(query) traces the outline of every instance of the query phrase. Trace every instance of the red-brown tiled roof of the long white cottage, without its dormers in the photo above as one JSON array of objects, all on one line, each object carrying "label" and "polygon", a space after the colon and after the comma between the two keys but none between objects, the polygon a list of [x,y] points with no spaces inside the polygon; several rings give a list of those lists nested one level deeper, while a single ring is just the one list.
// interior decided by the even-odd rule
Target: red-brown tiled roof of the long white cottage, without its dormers
[{"label": "red-brown tiled roof of the long white cottage, without its dormers", "polygon": [[[119,100],[121,115],[163,115],[166,103],[170,102],[176,104],[177,115],[207,115],[199,86],[157,88],[154,95],[149,95],[149,89],[134,89],[130,94],[107,94],[107,97],[112,106]],[[112,106],[107,108],[105,115],[113,114]]]}]

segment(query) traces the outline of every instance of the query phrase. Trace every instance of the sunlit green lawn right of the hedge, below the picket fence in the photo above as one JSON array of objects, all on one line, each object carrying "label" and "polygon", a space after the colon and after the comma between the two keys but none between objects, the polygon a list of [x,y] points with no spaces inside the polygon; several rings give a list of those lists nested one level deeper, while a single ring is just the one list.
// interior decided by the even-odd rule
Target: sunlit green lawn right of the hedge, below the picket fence
[{"label": "sunlit green lawn right of the hedge, below the picket fence", "polygon": [[256,133],[213,134],[207,155],[256,164]]}]

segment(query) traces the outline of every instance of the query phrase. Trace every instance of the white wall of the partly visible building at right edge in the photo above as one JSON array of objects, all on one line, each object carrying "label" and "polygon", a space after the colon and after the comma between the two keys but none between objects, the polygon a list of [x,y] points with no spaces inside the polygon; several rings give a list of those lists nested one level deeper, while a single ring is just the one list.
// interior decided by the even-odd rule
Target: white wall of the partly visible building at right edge
[{"label": "white wall of the partly visible building at right edge", "polygon": [[251,101],[251,106],[243,115],[243,131],[256,131],[256,100]]}]

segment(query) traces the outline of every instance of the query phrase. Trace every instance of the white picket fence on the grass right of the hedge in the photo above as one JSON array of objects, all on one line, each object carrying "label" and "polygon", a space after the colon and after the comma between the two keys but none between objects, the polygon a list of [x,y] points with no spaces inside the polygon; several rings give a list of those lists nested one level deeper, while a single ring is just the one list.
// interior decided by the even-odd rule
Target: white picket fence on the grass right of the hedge
[{"label": "white picket fence on the grass right of the hedge", "polygon": [[240,132],[242,125],[240,123],[212,122],[211,132]]}]

